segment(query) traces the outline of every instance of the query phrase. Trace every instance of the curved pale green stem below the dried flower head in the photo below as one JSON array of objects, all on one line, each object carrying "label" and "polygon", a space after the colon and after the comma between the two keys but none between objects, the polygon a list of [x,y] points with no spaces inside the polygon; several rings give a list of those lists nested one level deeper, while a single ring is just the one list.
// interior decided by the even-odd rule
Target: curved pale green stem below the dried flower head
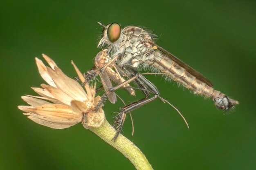
[{"label": "curved pale green stem below the dried flower head", "polygon": [[117,131],[108,123],[106,118],[99,128],[91,127],[88,129],[119,150],[119,152],[131,161],[137,170],[153,170],[146,156],[129,139],[120,134],[115,142],[112,140]]}]

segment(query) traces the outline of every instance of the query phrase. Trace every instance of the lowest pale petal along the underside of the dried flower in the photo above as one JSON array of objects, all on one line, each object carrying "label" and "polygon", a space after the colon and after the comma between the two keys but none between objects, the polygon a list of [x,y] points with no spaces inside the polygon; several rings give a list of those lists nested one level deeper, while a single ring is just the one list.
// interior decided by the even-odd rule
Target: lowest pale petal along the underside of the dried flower
[{"label": "lowest pale petal along the underside of the dried flower", "polygon": [[[49,128],[54,128],[54,129],[64,129],[64,128],[69,128],[70,126],[74,126],[75,124],[63,124],[63,123],[56,123],[56,122],[51,122],[47,121],[44,119],[40,118],[41,116],[28,116],[27,118],[31,119],[32,121],[36,122],[37,124],[47,126]],[[77,122],[79,123],[79,122]]]}]

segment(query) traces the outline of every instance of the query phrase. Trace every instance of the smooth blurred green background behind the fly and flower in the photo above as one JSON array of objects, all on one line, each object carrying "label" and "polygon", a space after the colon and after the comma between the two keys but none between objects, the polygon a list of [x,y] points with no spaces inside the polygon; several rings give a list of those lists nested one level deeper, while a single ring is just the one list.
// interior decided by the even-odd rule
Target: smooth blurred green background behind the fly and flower
[{"label": "smooth blurred green background behind the fly and flower", "polygon": [[[155,170],[256,169],[256,2],[212,0],[1,1],[0,2],[0,169],[133,170],[117,150],[81,124],[63,130],[40,126],[17,109],[20,96],[35,95],[43,83],[34,57],[45,53],[69,76],[71,60],[81,71],[93,65],[104,24],[119,22],[151,29],[157,44],[193,66],[217,90],[237,99],[224,114],[210,99],[193,95],[160,76],[147,76],[190,125],[159,99],[132,111],[123,134]],[[132,97],[120,89],[126,101]],[[107,119],[123,106],[105,103]]]}]

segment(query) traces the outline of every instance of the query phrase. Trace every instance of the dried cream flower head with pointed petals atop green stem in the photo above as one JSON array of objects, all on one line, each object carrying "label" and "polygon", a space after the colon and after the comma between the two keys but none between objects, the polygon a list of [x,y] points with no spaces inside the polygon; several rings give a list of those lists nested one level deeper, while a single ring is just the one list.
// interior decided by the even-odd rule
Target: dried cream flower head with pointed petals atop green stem
[{"label": "dried cream flower head with pointed petals atop green stem", "polygon": [[[41,77],[47,84],[42,88],[32,88],[40,96],[25,95],[21,98],[30,106],[18,106],[32,121],[50,128],[62,129],[73,126],[82,121],[85,128],[99,127],[105,119],[100,108],[94,112],[100,97],[95,97],[95,84],[82,86],[74,79],[67,77],[55,62],[47,55],[43,57],[49,64],[45,66],[36,58],[36,65]],[[72,62],[81,82],[84,77]]]}]

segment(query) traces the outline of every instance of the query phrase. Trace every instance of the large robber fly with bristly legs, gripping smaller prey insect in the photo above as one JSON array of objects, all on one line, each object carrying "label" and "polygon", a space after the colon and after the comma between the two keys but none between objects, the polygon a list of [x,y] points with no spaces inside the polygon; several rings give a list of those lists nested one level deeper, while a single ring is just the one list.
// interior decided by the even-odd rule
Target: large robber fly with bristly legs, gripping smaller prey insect
[{"label": "large robber fly with bristly legs, gripping smaller prey insect", "polygon": [[[150,34],[136,26],[127,26],[121,30],[121,26],[117,23],[112,23],[108,25],[103,25],[98,22],[101,27],[103,27],[103,35],[99,41],[98,47],[106,48],[104,51],[105,55],[110,55],[110,58],[106,57],[107,60],[102,60],[98,56],[98,66],[97,70],[94,70],[94,74],[88,72],[87,77],[92,77],[91,75],[97,75],[98,73],[101,77],[101,82],[106,93],[102,96],[99,105],[104,101],[106,97],[110,102],[115,103],[116,97],[114,91],[120,87],[124,87],[126,90],[130,88],[128,83],[136,82],[139,89],[144,93],[144,99],[136,102],[132,102],[127,106],[121,108],[120,112],[117,114],[114,125],[117,127],[117,133],[114,140],[117,138],[118,134],[121,132],[121,127],[124,123],[124,115],[154,99],[159,96],[159,91],[148,79],[143,77],[138,71],[138,67],[149,68],[152,66],[155,70],[168,75],[175,82],[178,82],[182,86],[192,90],[195,94],[200,94],[205,97],[211,97],[217,108],[221,110],[229,110],[233,108],[238,101],[227,97],[220,91],[216,91],[213,88],[211,82],[206,79],[202,74],[195,71],[193,68],[182,62],[180,59],[163,49],[162,47],[155,44]],[[96,57],[97,59],[97,57]],[[95,60],[97,65],[97,60]],[[115,73],[110,71],[112,69],[111,64],[115,65]],[[152,70],[152,69],[151,69]],[[120,79],[119,72],[125,71],[130,74],[125,81]],[[115,78],[109,78],[111,74],[115,74]],[[114,75],[113,74],[113,75]],[[124,75],[122,73],[122,75]],[[122,78],[122,76],[121,76]],[[90,79],[90,78],[89,78]],[[117,86],[113,87],[110,79],[119,79]],[[120,81],[121,80],[121,81]],[[149,97],[149,92],[153,93],[153,97]],[[132,94],[132,92],[129,92]],[[164,100],[164,99],[162,99]],[[167,102],[166,100],[164,100]],[[176,109],[176,108],[175,108]],[[176,109],[177,110],[177,109]],[[178,110],[177,110],[178,111]]]}]

